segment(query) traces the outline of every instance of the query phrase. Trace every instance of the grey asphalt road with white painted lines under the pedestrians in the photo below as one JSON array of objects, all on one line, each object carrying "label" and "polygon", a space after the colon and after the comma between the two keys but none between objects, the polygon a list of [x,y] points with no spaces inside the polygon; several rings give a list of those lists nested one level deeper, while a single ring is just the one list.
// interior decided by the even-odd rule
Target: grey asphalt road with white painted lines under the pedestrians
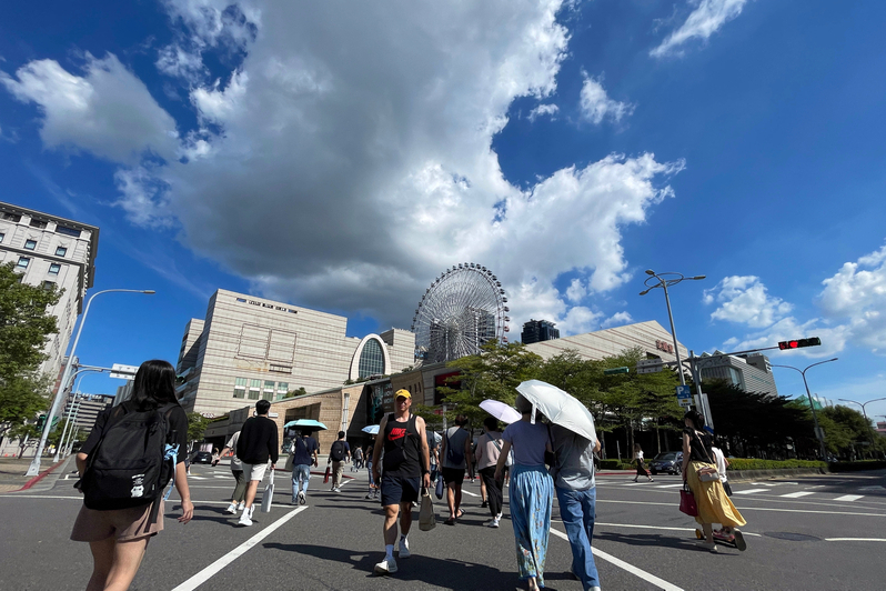
[{"label": "grey asphalt road with white painted lines under the pedestrians", "polygon": [[[394,577],[376,577],[382,512],[363,499],[365,471],[331,493],[312,479],[309,504],[289,504],[278,478],[270,513],[238,527],[223,512],[233,479],[225,467],[195,465],[197,507],[189,524],[169,503],[165,530],[148,548],[133,590],[520,589],[510,520],[481,527],[479,484],[467,483],[466,515],[410,535],[413,557]],[[348,472],[345,472],[348,474]],[[281,472],[281,477],[283,473]],[[350,475],[350,474],[349,474]],[[288,477],[288,474],[286,474]],[[694,521],[677,510],[679,480],[660,475],[633,483],[598,477],[594,549],[606,590],[879,590],[886,567],[886,471],[734,484],[733,500],[748,523],[745,552],[694,548]],[[0,494],[0,589],[83,589],[91,571],[88,544],[68,540],[80,507],[72,480],[51,490]],[[472,494],[471,494],[472,493]],[[507,518],[505,507],[505,518]],[[567,574],[571,553],[554,504],[545,567],[548,589],[580,590]],[[557,535],[560,533],[560,535]]]}]

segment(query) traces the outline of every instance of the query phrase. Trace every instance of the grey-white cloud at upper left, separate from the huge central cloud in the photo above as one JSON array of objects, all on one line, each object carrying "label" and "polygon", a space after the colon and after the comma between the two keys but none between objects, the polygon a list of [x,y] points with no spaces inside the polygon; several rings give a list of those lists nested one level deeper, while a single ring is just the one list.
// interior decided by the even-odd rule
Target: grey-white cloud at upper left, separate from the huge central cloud
[{"label": "grey-white cloud at upper left, separate from the huge central cloud", "polygon": [[175,121],[151,97],[144,83],[117,57],[87,54],[84,76],[54,60],[36,60],[0,72],[2,83],[21,102],[43,113],[40,137],[48,147],[73,147],[115,162],[137,162],[150,150],[174,158]]}]

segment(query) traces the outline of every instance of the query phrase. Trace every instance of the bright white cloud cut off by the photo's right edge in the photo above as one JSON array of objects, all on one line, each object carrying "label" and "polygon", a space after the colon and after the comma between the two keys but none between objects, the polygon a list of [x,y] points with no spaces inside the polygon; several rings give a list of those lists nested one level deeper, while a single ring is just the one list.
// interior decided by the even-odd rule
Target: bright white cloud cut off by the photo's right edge
[{"label": "bright white cloud cut off by the photo's right edge", "polygon": [[845,263],[822,283],[825,315],[847,322],[858,344],[886,352],[886,247]]}]

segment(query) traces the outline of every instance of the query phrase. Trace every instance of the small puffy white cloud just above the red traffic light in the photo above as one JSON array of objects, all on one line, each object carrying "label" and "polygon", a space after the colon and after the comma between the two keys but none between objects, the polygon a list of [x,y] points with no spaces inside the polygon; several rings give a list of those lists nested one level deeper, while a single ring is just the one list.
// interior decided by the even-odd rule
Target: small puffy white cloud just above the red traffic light
[{"label": "small puffy white cloud just above the red traffic light", "polygon": [[713,289],[704,291],[705,303],[718,302],[711,318],[742,322],[751,328],[765,328],[791,312],[793,305],[772,297],[766,286],[754,276],[724,278]]}]

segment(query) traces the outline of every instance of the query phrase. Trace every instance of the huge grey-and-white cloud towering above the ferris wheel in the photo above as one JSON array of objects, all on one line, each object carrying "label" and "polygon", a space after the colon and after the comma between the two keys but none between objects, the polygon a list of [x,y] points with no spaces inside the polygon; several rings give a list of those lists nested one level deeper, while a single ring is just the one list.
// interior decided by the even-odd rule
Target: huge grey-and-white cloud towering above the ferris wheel
[{"label": "huge grey-and-white cloud towering above the ferris wheel", "polygon": [[[222,4],[168,2],[207,51],[224,50]],[[190,93],[207,129],[179,141],[182,161],[118,173],[131,219],[174,216],[185,244],[255,291],[382,325],[409,327],[432,279],[465,261],[499,276],[512,328],[600,322],[555,280],[576,272],[593,292],[627,281],[622,229],[673,196],[684,163],[611,154],[527,188],[503,177],[492,146],[512,102],[556,89],[560,0],[239,7],[251,28],[230,38],[245,40],[243,59]]]}]

